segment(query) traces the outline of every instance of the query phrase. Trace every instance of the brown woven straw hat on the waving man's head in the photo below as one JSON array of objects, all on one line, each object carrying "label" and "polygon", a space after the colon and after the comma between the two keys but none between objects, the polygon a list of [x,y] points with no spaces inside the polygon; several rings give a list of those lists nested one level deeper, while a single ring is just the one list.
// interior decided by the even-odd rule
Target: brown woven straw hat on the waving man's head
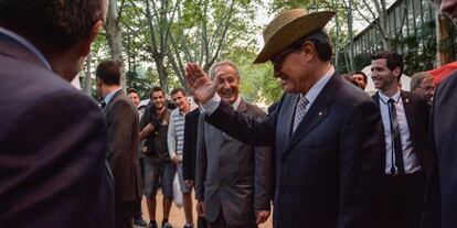
[{"label": "brown woven straw hat on the waving man's head", "polygon": [[332,11],[308,13],[304,9],[286,10],[264,30],[265,45],[254,63],[265,63],[294,42],[323,26],[336,14]]}]

